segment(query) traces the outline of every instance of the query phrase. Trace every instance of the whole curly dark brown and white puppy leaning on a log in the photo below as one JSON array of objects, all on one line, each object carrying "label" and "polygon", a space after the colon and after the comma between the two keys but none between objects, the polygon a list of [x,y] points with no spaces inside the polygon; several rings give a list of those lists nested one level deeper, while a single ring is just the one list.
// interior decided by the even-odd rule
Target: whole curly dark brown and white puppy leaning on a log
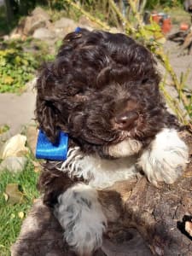
[{"label": "whole curly dark brown and white puppy leaning on a log", "polygon": [[151,183],[174,183],[188,162],[159,83],[143,45],[121,33],[85,29],[68,34],[39,74],[39,128],[52,143],[59,131],[69,136],[67,160],[47,161],[39,187],[78,255],[101,247],[108,221],[115,221],[102,189],[140,169]]}]

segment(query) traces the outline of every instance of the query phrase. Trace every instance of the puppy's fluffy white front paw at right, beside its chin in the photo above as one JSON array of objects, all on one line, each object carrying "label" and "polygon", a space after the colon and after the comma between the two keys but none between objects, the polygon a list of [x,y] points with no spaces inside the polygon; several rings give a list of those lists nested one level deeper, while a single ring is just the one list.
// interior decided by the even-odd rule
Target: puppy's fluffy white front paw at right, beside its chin
[{"label": "puppy's fluffy white front paw at right, beside its chin", "polygon": [[189,149],[174,129],[160,131],[138,162],[151,183],[174,183],[189,162]]}]

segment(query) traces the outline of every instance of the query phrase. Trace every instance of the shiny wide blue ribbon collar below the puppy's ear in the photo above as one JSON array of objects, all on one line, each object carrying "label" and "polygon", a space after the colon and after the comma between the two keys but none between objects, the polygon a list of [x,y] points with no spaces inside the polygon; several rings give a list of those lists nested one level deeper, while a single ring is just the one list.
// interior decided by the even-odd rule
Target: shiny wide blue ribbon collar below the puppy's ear
[{"label": "shiny wide blue ribbon collar below the puppy's ear", "polygon": [[36,147],[36,158],[46,160],[67,160],[68,134],[60,131],[56,143],[50,143],[44,131],[38,132],[38,143]]}]

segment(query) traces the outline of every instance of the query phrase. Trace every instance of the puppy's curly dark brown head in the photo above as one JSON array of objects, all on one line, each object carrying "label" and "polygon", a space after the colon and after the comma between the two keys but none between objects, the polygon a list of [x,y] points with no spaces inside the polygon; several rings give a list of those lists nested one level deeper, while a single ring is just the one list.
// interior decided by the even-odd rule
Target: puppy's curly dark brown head
[{"label": "puppy's curly dark brown head", "polygon": [[124,34],[82,29],[64,38],[38,78],[36,115],[51,142],[58,131],[96,152],[130,137],[145,142],[166,123],[160,76],[148,49]]}]

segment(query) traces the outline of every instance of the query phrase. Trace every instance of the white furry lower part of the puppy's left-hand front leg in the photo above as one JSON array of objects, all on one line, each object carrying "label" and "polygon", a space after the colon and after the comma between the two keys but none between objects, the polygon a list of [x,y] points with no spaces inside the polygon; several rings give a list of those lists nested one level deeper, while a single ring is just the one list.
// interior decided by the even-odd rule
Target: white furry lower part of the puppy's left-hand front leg
[{"label": "white furry lower part of the puppy's left-hand front leg", "polygon": [[79,183],[59,196],[55,216],[64,228],[65,239],[78,255],[90,255],[102,246],[107,220],[97,192]]}]

